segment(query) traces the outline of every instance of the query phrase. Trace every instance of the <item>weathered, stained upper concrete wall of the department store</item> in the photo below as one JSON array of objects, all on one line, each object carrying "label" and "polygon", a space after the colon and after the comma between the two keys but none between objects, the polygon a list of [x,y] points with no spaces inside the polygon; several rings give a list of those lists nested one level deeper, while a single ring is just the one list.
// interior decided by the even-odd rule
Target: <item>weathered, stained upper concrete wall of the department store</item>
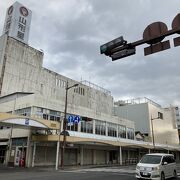
[{"label": "weathered, stained upper concrete wall of the department store", "polygon": [[[65,84],[79,83],[42,67],[43,53],[8,37],[6,68],[3,79],[2,96],[14,92],[33,92],[39,97],[40,107],[52,106],[61,101],[60,111],[64,111]],[[112,114],[113,98],[110,94],[79,83],[83,94],[68,91],[68,104],[71,112],[84,107],[94,115]],[[46,104],[45,104],[46,103]],[[57,107],[56,107],[57,108]],[[92,112],[90,112],[92,114]],[[86,113],[86,115],[89,115]]]}]

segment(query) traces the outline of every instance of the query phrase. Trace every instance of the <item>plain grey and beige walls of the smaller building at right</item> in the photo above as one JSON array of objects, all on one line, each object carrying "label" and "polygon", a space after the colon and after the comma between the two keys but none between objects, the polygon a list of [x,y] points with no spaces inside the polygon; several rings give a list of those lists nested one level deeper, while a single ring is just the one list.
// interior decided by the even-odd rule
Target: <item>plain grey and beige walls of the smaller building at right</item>
[{"label": "plain grey and beige walls of the smaller building at right", "polygon": [[[175,129],[175,116],[173,108],[162,108],[150,103],[127,104],[114,108],[115,115],[126,116],[135,122],[135,130],[147,133],[152,140],[152,125],[155,136],[155,143],[179,144],[178,131]],[[163,113],[163,120],[157,119],[158,112]]]}]

